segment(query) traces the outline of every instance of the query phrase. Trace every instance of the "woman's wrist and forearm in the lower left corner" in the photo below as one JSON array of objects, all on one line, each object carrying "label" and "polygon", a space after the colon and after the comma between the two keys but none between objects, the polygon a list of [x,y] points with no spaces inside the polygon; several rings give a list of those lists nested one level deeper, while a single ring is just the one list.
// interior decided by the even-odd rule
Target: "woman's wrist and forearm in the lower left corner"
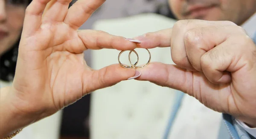
[{"label": "woman's wrist and forearm in the lower left corner", "polygon": [[15,96],[12,96],[14,94],[12,91],[12,87],[1,88],[0,90],[0,139],[32,124],[37,119],[13,105]]}]

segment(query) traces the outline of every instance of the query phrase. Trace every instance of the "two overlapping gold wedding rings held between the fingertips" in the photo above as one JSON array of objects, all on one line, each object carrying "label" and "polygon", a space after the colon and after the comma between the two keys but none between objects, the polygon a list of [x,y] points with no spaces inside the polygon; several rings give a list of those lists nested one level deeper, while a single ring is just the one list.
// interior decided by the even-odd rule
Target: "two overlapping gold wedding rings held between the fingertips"
[{"label": "two overlapping gold wedding rings held between the fingertips", "polygon": [[[147,51],[148,51],[148,49],[146,49]],[[126,50],[126,51],[128,51],[128,50]],[[138,55],[138,53],[135,51],[135,50],[129,50],[130,51],[130,53],[129,53],[129,56],[128,56],[128,58],[129,58],[129,62],[130,62],[130,66],[127,66],[127,65],[123,65],[121,62],[120,62],[120,56],[121,56],[121,54],[124,52],[124,51],[121,51],[120,53],[119,53],[119,55],[118,55],[118,62],[119,62],[119,64],[123,67],[123,68],[143,68],[143,67],[145,67],[145,66],[147,66],[148,64],[149,64],[149,62],[150,62],[150,60],[151,60],[151,54],[150,54],[150,52],[148,51],[148,54],[149,54],[149,60],[148,60],[148,62],[145,64],[145,65],[142,65],[142,66],[137,66],[137,64],[138,64],[138,62],[139,62],[139,55]],[[131,52],[134,52],[136,55],[137,55],[137,61],[134,63],[134,64],[132,64],[132,62],[131,62]]]}]

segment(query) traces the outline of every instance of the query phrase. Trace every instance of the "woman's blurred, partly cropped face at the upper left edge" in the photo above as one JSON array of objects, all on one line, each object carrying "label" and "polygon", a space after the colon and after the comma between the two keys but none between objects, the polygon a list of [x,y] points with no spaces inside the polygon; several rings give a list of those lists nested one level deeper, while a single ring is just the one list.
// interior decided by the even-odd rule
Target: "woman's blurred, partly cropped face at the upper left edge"
[{"label": "woman's blurred, partly cropped face at the upper left edge", "polygon": [[0,0],[0,55],[19,39],[26,4],[23,0]]}]

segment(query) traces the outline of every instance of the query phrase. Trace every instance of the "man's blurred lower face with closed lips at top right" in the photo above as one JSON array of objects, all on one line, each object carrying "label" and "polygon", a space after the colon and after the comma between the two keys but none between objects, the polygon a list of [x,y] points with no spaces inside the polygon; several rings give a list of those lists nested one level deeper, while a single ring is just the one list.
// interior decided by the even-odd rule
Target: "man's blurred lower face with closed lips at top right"
[{"label": "man's blurred lower face with closed lips at top right", "polygon": [[241,25],[256,12],[256,0],[169,0],[179,19],[229,20]]}]

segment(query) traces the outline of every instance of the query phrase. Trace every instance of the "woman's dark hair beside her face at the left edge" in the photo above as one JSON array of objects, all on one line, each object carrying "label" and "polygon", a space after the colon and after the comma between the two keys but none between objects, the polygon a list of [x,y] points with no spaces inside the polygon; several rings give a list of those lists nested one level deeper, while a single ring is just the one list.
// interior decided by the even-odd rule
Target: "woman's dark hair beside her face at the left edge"
[{"label": "woman's dark hair beside her face at the left edge", "polygon": [[[8,3],[25,6],[28,6],[31,2],[32,0],[8,0]],[[8,82],[13,80],[17,63],[19,43],[20,38],[12,46],[12,48],[0,56],[0,80]]]}]

